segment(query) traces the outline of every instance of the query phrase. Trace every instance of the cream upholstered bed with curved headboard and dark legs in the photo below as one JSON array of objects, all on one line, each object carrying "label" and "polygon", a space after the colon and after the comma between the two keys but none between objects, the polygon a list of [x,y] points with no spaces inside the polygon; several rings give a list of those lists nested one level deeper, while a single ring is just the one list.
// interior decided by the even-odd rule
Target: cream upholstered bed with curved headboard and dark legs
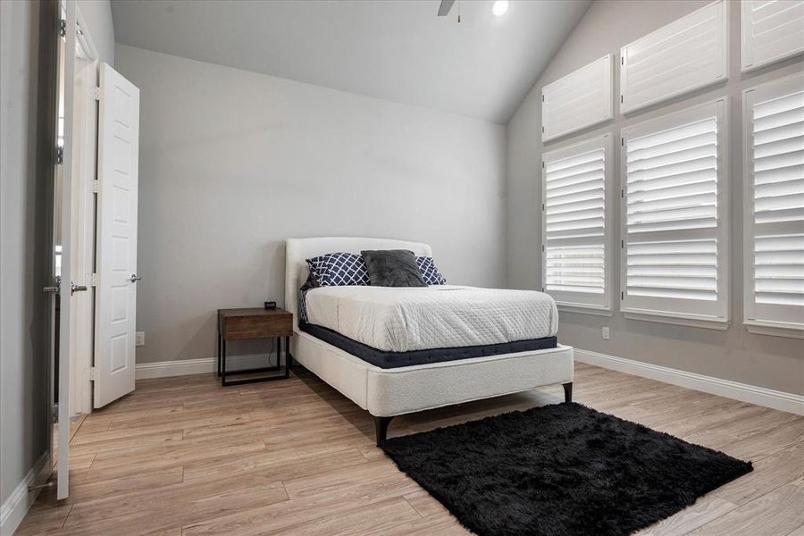
[{"label": "cream upholstered bed with curved headboard and dark legs", "polygon": [[[555,307],[549,298],[542,299],[545,295],[541,293],[461,286],[445,287],[440,289],[440,294],[435,294],[437,291],[434,289],[404,289],[408,292],[400,294],[400,289],[329,288],[315,297],[308,293],[308,299],[315,301],[316,306],[307,314],[312,315],[310,320],[315,322],[298,322],[299,289],[309,273],[306,259],[340,251],[359,255],[365,249],[408,249],[415,255],[432,256],[428,245],[403,240],[338,237],[288,239],[285,307],[295,316],[295,336],[291,340],[293,358],[373,415],[378,444],[385,440],[390,420],[397,415],[559,383],[564,385],[565,399],[572,399],[573,348],[556,344],[555,340],[549,341],[549,335],[537,337],[550,332],[555,337],[557,314],[526,314],[531,310],[529,307],[538,309],[540,304]],[[482,345],[473,344],[480,339],[465,339],[473,337],[473,332],[478,331],[472,325],[463,326],[464,331],[461,331],[459,328],[465,322],[447,322],[438,326],[438,329],[430,330],[440,335],[418,333],[415,336],[405,330],[389,329],[388,324],[382,324],[381,329],[377,329],[376,322],[360,322],[361,318],[388,316],[392,319],[397,309],[393,306],[395,300],[402,296],[413,296],[414,293],[409,292],[411,290],[419,291],[419,294],[410,298],[418,309],[408,306],[406,316],[402,319],[405,322],[397,323],[409,321],[408,312],[411,310],[426,315],[441,302],[448,310],[450,300],[455,299],[479,307],[481,318],[497,319],[494,312],[500,311],[499,300],[512,299],[516,302],[521,298],[522,304],[517,309],[520,316],[538,318],[530,324],[519,322],[522,325],[516,322],[516,315],[513,315],[513,320],[500,319],[493,327],[483,328],[491,333],[485,334]],[[449,292],[453,294],[448,296]],[[514,294],[508,295],[508,292]],[[332,305],[327,306],[328,303]],[[372,308],[366,310],[366,304]],[[330,318],[327,318],[328,310],[335,312],[330,314]],[[430,314],[424,318],[437,321],[448,317],[443,310]],[[353,317],[351,322],[344,322],[344,318],[350,317]],[[453,348],[441,348],[448,358],[428,361],[427,356],[434,354],[428,348],[433,344],[432,340],[427,339],[428,336],[443,337],[444,333],[448,337],[461,338],[460,344]],[[525,346],[517,346],[517,343],[524,342],[527,343]],[[379,361],[372,361],[373,358],[364,355],[364,352],[371,351],[376,352],[374,357]],[[473,355],[472,351],[480,354]],[[462,355],[467,352],[469,355]],[[420,356],[423,361],[418,359]],[[406,360],[414,357],[416,359],[406,363]],[[388,360],[394,363],[389,366]]]}]

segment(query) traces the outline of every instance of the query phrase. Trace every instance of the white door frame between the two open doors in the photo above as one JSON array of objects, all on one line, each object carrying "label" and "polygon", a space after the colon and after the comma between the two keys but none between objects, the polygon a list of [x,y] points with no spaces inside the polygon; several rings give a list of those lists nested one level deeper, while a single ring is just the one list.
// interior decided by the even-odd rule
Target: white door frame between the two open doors
[{"label": "white door frame between the two open doors", "polygon": [[[73,295],[71,300],[71,418],[92,412],[93,348],[95,342],[95,226],[97,173],[97,101],[99,58],[87,24],[75,6],[81,33],[76,34],[76,78],[73,94],[75,127],[73,130],[72,174],[72,256],[71,272],[77,285],[87,292]],[[79,63],[83,66],[79,69]]]}]

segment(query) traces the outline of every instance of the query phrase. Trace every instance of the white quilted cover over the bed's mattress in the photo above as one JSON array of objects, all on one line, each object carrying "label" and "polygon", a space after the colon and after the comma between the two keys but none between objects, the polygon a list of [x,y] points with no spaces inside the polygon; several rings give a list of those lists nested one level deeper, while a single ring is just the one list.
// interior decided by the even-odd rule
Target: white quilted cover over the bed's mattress
[{"label": "white quilted cover over the bed's mattress", "polygon": [[386,352],[551,337],[556,302],[535,290],[439,285],[321,287],[306,294],[307,321]]}]

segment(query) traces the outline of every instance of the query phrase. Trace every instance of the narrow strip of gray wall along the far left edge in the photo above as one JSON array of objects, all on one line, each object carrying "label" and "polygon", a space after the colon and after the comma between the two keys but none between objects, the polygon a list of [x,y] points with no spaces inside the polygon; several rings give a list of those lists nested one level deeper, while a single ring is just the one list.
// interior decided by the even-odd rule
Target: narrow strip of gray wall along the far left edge
[{"label": "narrow strip of gray wall along the far left edge", "polygon": [[32,278],[38,4],[0,3],[0,503],[46,450]]}]

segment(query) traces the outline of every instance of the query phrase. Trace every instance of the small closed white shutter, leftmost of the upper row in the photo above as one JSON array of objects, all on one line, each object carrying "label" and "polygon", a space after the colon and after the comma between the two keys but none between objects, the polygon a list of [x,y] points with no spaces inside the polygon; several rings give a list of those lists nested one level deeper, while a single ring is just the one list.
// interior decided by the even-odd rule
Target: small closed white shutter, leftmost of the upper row
[{"label": "small closed white shutter, leftmost of the upper row", "polygon": [[559,138],[614,117],[611,54],[541,89],[541,139]]}]

